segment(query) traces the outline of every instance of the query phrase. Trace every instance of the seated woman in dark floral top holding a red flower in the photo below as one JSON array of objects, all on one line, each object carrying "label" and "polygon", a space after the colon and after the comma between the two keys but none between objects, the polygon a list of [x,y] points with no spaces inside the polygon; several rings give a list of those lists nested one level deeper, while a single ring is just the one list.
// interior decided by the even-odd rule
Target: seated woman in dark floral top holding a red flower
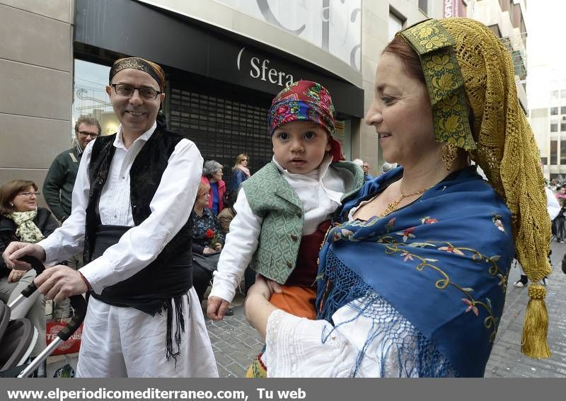
[{"label": "seated woman in dark floral top holding a red flower", "polygon": [[216,215],[207,208],[210,200],[210,186],[199,183],[197,199],[192,207],[192,286],[202,302],[204,292],[216,270],[218,257],[224,245],[224,233]]}]

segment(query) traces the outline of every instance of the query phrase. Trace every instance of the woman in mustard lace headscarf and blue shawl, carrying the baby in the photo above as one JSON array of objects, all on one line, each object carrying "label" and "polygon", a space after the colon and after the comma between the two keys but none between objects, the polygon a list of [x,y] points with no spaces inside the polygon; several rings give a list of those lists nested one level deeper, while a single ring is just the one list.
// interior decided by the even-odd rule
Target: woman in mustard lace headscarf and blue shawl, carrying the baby
[{"label": "woman in mustard lace headscarf and blue shawl, carrying the baby", "polygon": [[267,375],[481,377],[514,252],[536,283],[521,351],[550,356],[538,284],[550,272],[550,220],[509,53],[477,21],[424,21],[383,51],[375,88],[366,122],[403,167],[366,182],[335,216],[319,320],[276,310],[265,280],[248,292]]}]

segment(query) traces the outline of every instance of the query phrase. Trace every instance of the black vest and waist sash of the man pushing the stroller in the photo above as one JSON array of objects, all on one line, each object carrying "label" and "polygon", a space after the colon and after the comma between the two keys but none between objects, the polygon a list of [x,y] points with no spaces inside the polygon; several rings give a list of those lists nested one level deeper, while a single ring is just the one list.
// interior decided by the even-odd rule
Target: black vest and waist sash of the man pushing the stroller
[{"label": "black vest and waist sash of the man pushing the stroller", "polygon": [[[96,246],[100,227],[112,227],[101,226],[97,205],[108,178],[112,156],[114,156],[115,138],[116,134],[98,137],[93,145],[91,162],[88,165],[91,190],[86,207],[83,255],[85,264],[100,256],[100,250],[98,250],[100,247]],[[167,168],[168,159],[181,139],[183,139],[182,136],[169,132],[163,125],[158,124],[155,132],[136,156],[129,171],[130,202],[136,226],[139,226],[151,214],[149,204]],[[187,210],[187,218],[189,214],[190,211]],[[185,226],[163,248],[154,262],[129,279],[108,286],[102,294],[93,294],[93,296],[110,305],[129,306],[151,315],[162,308],[167,308],[172,298],[186,294],[192,287],[191,232],[192,222],[191,219],[187,219]],[[117,240],[119,239],[118,237]]]}]

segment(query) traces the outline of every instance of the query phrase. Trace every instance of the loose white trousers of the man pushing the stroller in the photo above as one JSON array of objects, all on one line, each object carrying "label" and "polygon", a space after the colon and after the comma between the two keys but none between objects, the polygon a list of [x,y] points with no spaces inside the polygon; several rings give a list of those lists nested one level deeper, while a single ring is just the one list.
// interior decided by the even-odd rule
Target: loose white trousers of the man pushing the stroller
[{"label": "loose white trousers of the man pushing the stroller", "polygon": [[[188,296],[189,302],[183,296],[185,332],[181,332],[176,366],[175,359],[166,360],[167,313],[151,316],[134,308],[110,306],[91,297],[76,377],[218,377],[195,289],[191,288]],[[173,336],[176,327],[173,313]],[[176,347],[173,339],[173,351]]]}]

